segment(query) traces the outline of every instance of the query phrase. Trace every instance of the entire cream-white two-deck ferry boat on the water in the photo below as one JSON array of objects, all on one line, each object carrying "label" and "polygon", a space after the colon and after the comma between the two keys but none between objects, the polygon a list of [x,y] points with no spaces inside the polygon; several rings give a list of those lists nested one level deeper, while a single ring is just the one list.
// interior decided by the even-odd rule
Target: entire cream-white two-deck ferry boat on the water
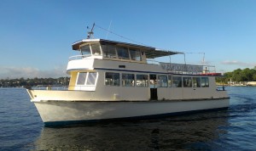
[{"label": "entire cream-white two-deck ferry boat on the water", "polygon": [[178,52],[104,39],[74,42],[73,50],[80,55],[68,60],[67,90],[27,89],[45,125],[229,107],[227,92],[215,84],[220,75],[208,71],[211,66],[148,61]]}]

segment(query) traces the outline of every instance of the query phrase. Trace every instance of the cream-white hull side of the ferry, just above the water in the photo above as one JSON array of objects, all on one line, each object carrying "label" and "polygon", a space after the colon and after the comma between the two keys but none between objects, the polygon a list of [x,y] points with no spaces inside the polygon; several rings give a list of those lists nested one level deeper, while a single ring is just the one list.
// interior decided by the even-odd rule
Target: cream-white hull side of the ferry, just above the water
[{"label": "cream-white hull side of the ferry, just above the water", "polygon": [[151,115],[176,115],[183,112],[229,107],[230,99],[150,102],[34,102],[44,123],[80,122]]}]

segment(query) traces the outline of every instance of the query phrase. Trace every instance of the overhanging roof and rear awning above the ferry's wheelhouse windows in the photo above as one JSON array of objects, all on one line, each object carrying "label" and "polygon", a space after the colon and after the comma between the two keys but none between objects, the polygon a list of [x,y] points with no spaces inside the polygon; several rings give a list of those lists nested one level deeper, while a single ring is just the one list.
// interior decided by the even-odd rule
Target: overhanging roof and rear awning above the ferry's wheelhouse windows
[{"label": "overhanging roof and rear awning above the ferry's wheelhouse windows", "polygon": [[181,52],[157,49],[157,48],[153,48],[153,47],[137,45],[137,44],[127,43],[127,42],[109,41],[109,40],[105,40],[105,39],[83,39],[79,42],[74,42],[72,44],[72,48],[73,48],[73,50],[79,50],[79,46],[81,44],[91,43],[91,42],[101,42],[101,43],[108,43],[111,45],[126,46],[126,47],[132,47],[132,48],[142,48],[145,51],[148,59],[154,59],[154,58],[163,57],[163,56],[170,56],[170,55],[174,55],[174,54],[183,54]]}]

